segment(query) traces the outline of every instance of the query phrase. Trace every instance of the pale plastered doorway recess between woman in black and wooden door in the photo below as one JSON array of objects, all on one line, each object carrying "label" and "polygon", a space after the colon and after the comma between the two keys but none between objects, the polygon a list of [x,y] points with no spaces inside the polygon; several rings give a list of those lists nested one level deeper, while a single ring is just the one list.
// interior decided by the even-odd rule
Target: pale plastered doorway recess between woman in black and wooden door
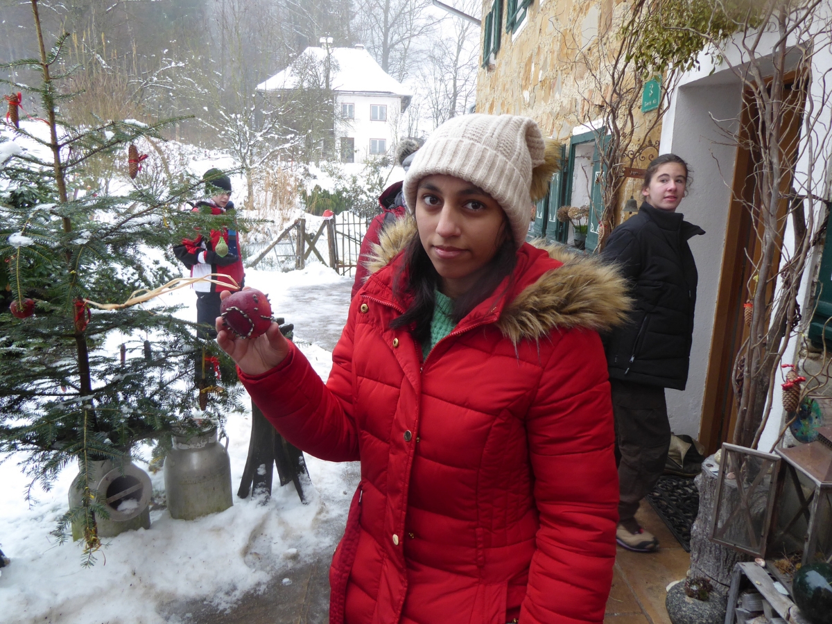
[{"label": "pale plastered doorway recess between woman in black and wooden door", "polygon": [[[725,249],[730,183],[736,147],[725,145],[724,130],[735,130],[740,115],[740,84],[733,74],[689,76],[677,89],[661,131],[662,154],[673,152],[693,170],[690,194],[679,211],[706,234],[690,240],[699,272],[696,292],[691,370],[684,392],[667,390],[667,411],[675,433],[696,438],[705,395],[711,334],[714,329],[722,251]],[[715,121],[719,120],[719,121]]]}]

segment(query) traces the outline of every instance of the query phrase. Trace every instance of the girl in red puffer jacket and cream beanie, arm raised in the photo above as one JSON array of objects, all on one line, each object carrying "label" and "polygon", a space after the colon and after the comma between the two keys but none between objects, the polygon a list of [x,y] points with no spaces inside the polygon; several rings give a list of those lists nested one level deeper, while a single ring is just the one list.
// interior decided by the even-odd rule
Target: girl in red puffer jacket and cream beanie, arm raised
[{"label": "girl in red puffer jacket and cream beanie, arm raised", "polygon": [[524,242],[557,146],[465,115],[404,180],[324,384],[277,324],[220,347],[291,443],[361,462],[330,569],[333,624],[602,622],[618,482],[597,331],[626,286]]}]

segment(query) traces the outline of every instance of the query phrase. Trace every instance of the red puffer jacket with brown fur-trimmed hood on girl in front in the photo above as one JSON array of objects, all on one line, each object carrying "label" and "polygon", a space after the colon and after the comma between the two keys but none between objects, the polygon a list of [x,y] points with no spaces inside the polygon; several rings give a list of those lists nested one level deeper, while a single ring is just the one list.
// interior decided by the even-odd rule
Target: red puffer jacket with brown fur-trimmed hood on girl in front
[{"label": "red puffer jacket with brown fur-trimmed hood on girl in front", "polygon": [[[387,257],[396,237],[383,236]],[[567,257],[522,245],[508,291],[423,362],[389,328],[404,311],[396,255],[354,297],[325,385],[294,346],[275,369],[240,373],[291,443],[361,461],[330,569],[332,624],[602,622],[618,479],[596,330],[621,322],[626,287]]]}]

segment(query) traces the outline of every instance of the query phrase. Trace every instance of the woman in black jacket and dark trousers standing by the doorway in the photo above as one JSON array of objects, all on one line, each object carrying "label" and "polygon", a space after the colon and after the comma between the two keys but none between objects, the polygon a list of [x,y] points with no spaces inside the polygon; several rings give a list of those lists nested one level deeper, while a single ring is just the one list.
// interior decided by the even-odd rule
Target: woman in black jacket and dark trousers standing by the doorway
[{"label": "woman in black jacket and dark trousers standing by the doorway", "polygon": [[636,302],[630,323],[606,344],[621,488],[616,538],[636,552],[659,546],[635,514],[665,467],[671,441],[665,389],[685,389],[691,355],[697,276],[687,241],[705,231],[676,212],[689,173],[675,154],[651,161],[641,209],[612,230],[602,252],[621,266]]}]

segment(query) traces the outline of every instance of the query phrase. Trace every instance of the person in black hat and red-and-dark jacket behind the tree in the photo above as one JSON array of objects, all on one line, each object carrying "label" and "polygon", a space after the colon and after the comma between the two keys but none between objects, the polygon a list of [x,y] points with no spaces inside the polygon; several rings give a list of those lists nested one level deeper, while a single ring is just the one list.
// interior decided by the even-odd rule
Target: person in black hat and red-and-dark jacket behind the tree
[{"label": "person in black hat and red-and-dark jacket behind the tree", "polygon": [[[230,178],[219,169],[209,169],[202,179],[205,181],[207,199],[197,201],[192,211],[233,215],[235,208],[230,201]],[[237,232],[221,228],[210,230],[209,235],[202,235],[197,231],[195,238],[183,238],[181,245],[176,245],[173,252],[191,270],[191,277],[214,274],[213,279],[220,282],[202,281],[193,285],[196,290],[196,322],[199,324],[196,335],[205,340],[215,339],[214,319],[220,315],[220,293],[242,288],[245,280]],[[200,389],[200,406],[205,409],[206,390],[216,384],[216,374],[215,365],[212,360],[206,359],[204,349],[196,354],[194,369],[194,381]]]}]

